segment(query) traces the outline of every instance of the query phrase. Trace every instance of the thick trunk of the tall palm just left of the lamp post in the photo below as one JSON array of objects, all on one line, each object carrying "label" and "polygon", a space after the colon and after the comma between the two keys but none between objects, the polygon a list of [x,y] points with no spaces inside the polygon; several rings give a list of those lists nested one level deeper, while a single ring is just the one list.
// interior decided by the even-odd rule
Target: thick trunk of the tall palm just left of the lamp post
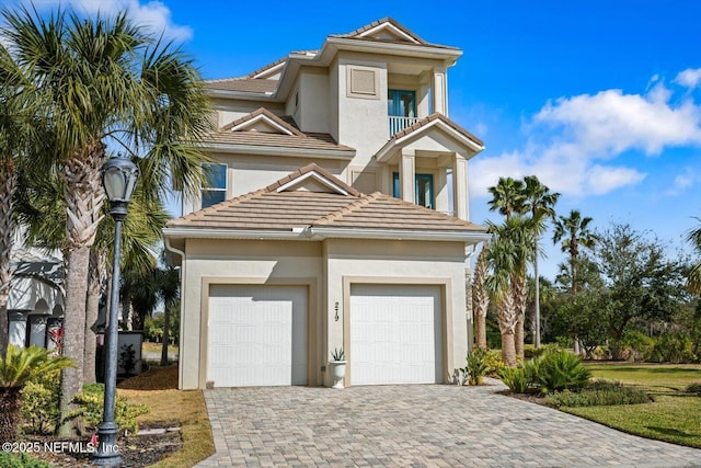
[{"label": "thick trunk of the tall palm just left of the lamp post", "polygon": [[100,168],[104,160],[105,146],[96,141],[82,155],[66,161],[64,174],[66,186],[66,299],[64,319],[64,355],[76,361],[78,367],[61,373],[61,436],[74,435],[74,423],[67,419],[72,410],[72,400],[83,384],[83,357],[85,349],[85,303],[88,298],[88,271],[90,248],[95,241],[100,208],[104,190],[100,180]]}]

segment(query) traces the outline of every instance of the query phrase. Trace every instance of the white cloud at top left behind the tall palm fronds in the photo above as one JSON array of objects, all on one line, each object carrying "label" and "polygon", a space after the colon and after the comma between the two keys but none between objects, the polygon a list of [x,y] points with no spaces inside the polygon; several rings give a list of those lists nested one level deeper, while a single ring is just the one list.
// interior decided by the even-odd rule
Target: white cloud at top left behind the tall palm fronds
[{"label": "white cloud at top left behind the tall palm fronds", "polygon": [[[26,2],[28,4],[28,2]],[[189,26],[172,22],[170,9],[157,0],[141,2],[139,0],[39,0],[34,1],[39,9],[71,7],[89,15],[114,15],[127,11],[129,18],[153,34],[163,33],[164,37],[175,42],[188,41],[193,37]]]}]

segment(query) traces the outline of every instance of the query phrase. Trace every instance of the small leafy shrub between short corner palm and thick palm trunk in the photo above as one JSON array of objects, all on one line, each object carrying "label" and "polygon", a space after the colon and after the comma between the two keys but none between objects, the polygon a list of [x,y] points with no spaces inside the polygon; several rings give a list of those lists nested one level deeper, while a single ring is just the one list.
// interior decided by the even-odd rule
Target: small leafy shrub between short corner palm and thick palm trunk
[{"label": "small leafy shrub between short corner palm and thick palm trunk", "polygon": [[21,415],[33,434],[48,434],[60,419],[60,374],[47,373],[22,389]]}]

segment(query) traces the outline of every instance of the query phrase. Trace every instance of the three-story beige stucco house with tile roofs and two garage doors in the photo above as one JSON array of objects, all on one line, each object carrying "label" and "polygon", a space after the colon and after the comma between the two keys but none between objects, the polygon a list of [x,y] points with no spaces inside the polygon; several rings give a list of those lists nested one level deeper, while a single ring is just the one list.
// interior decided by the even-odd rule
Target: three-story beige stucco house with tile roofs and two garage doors
[{"label": "three-story beige stucco house with tile roofs and two garage doors", "polygon": [[169,222],[182,266],[180,388],[443,383],[472,343],[468,161],[448,118],[461,50],[391,19],[207,82],[219,129]]}]

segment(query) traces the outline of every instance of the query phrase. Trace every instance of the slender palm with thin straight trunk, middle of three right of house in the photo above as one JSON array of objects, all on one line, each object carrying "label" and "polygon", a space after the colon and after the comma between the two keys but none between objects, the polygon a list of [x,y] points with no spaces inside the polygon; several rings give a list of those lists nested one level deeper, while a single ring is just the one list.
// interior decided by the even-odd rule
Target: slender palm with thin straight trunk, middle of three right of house
[{"label": "slender palm with thin straight trunk, middle of three right of house", "polygon": [[538,281],[535,282],[536,286],[536,333],[533,344],[536,347],[540,347],[540,276],[538,274],[538,241],[540,236],[545,229],[545,221],[552,219],[555,216],[555,203],[560,198],[559,193],[550,192],[550,189],[538,180],[536,175],[528,175],[524,178],[524,208],[530,212],[531,218],[535,221],[535,239],[533,239],[533,277]]}]

